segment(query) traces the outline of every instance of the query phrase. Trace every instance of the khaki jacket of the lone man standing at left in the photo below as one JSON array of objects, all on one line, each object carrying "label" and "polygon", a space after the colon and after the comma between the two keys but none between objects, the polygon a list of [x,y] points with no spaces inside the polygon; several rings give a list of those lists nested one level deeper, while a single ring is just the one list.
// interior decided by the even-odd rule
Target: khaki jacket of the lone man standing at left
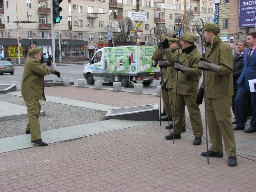
[{"label": "khaki jacket of the lone man standing at left", "polygon": [[25,61],[21,80],[21,94],[24,99],[45,100],[44,76],[49,74],[46,65],[42,65],[33,54]]}]

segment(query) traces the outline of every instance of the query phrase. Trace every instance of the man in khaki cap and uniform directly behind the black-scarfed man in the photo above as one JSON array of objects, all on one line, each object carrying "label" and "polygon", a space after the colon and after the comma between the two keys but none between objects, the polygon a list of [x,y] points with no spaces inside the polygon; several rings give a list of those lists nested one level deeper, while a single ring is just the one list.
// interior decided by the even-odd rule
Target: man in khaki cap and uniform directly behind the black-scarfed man
[{"label": "man in khaki cap and uniform directly behind the black-scarfed man", "polygon": [[[176,60],[176,58],[178,57],[178,52],[179,52],[179,39],[177,38],[170,38],[169,39],[169,43],[170,43],[170,49],[171,52],[167,52],[165,54],[165,58],[171,63],[172,66],[174,66],[174,62]],[[181,49],[180,49],[180,53],[181,53]],[[173,82],[174,82],[174,71],[175,69],[173,67],[167,67],[166,69],[166,77],[168,79],[166,87],[168,89],[168,97],[169,97],[169,102],[170,102],[170,108],[172,111],[172,119],[174,119],[174,102],[175,102],[175,98],[174,98],[174,92],[173,92]],[[173,122],[170,125],[165,126],[166,129],[172,129],[173,127]],[[183,124],[182,124],[182,132],[186,131],[186,116],[184,113],[183,116]]]}]

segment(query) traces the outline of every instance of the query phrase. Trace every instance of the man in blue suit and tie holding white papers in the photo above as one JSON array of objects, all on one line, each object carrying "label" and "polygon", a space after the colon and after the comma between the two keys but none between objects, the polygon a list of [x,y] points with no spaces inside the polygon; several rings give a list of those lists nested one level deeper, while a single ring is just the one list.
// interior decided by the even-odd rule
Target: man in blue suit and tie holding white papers
[{"label": "man in blue suit and tie holding white papers", "polygon": [[256,92],[250,92],[248,80],[256,79],[256,32],[247,34],[246,43],[249,48],[244,50],[243,68],[240,77],[237,79],[238,91],[235,99],[236,126],[234,129],[244,128],[244,106],[248,100],[248,93],[251,95],[252,119],[246,133],[256,132]]}]

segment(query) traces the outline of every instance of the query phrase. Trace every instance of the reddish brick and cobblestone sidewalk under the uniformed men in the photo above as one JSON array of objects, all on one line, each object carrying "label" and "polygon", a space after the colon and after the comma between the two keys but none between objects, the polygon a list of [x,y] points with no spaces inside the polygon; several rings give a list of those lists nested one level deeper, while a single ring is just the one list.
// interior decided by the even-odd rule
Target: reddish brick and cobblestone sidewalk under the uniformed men
[{"label": "reddish brick and cobblestone sidewalk under the uniformed men", "polygon": [[[15,94],[0,94],[0,101],[25,106],[22,97]],[[115,107],[154,103],[160,106],[159,97],[154,95],[74,86],[46,87],[45,95],[59,99],[41,102],[46,111],[46,116],[40,117],[42,131],[92,122],[97,124],[91,130],[112,127],[101,125],[106,112],[100,108],[72,106],[70,102],[60,103],[61,100]],[[204,104],[200,109],[205,128]],[[192,145],[194,136],[188,112],[186,117],[186,132],[175,144],[164,139],[169,133],[166,122],[161,122],[161,126],[159,122],[150,122],[55,142],[47,147],[1,153],[0,191],[256,191],[256,133],[235,131],[236,167],[228,167],[225,156],[210,157],[208,165],[207,158],[200,156],[206,151],[206,141],[199,146]],[[27,119],[0,122],[1,138],[8,143],[9,137],[28,136],[24,135],[26,124]],[[68,131],[76,132],[73,128]],[[26,139],[29,143],[29,137],[25,142]],[[44,139],[47,138],[43,136]]]}]

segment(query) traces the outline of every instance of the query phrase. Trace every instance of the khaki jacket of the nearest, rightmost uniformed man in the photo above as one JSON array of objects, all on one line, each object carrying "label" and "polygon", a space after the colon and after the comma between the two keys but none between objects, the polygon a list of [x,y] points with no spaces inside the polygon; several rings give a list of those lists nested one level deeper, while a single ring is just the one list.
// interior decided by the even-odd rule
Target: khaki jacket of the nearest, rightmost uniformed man
[{"label": "khaki jacket of the nearest, rightmost uniformed man", "polygon": [[216,36],[212,49],[210,43],[205,43],[205,59],[220,65],[219,73],[205,71],[205,95],[207,98],[223,99],[233,95],[233,57],[228,44]]}]

